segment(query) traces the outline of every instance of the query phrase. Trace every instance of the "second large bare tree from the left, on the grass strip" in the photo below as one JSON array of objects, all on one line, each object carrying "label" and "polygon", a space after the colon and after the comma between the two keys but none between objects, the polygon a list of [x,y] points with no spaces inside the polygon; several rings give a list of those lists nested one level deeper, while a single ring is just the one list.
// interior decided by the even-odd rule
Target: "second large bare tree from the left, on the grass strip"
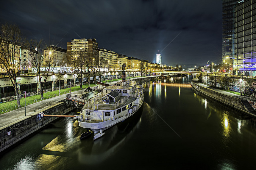
[{"label": "second large bare tree from the left, on the grass strip", "polygon": [[52,74],[56,63],[54,62],[55,56],[52,54],[54,49],[51,49],[50,46],[50,48],[46,48],[46,53],[43,54],[41,46],[43,46],[42,40],[30,40],[25,44],[26,49],[29,49],[27,61],[28,64],[37,71],[41,100],[43,100],[43,88],[46,85],[47,78]]}]

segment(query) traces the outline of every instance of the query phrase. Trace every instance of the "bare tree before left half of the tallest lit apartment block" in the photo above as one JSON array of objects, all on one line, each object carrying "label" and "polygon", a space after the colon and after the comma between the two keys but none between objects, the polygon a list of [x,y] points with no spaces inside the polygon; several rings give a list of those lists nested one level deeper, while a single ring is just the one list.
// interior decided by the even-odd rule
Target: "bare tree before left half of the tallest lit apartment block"
[{"label": "bare tree before left half of the tallest lit apartment block", "polygon": [[77,55],[71,56],[71,54],[67,54],[63,59],[68,66],[73,68],[73,73],[69,69],[67,70],[78,78],[80,89],[82,89],[82,81],[84,75],[83,62],[85,60],[85,56],[85,51],[81,50]]}]

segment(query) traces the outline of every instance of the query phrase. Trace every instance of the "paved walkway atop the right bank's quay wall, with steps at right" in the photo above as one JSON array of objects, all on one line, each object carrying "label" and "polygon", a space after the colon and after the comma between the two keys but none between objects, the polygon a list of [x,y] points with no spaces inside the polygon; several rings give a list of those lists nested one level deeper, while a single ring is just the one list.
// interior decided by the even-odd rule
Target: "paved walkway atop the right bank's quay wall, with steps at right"
[{"label": "paved walkway atop the right bank's quay wall, with steps at right", "polygon": [[[212,87],[212,86],[207,86],[205,84],[202,84],[198,81],[197,78],[193,79],[192,80],[194,84],[196,84],[197,86],[201,86],[201,87],[204,87],[206,89],[211,89],[215,92],[218,92],[218,93],[221,93],[225,96],[229,96],[229,97],[234,97],[236,99],[239,99],[241,100],[241,102],[244,104],[244,106],[249,110],[249,112],[251,113],[250,115],[255,115],[256,116],[256,111],[255,109],[252,107],[251,104],[249,104],[248,101],[252,101],[252,102],[255,102],[256,103],[256,97],[254,96],[248,96],[248,95],[238,95],[238,94],[234,94],[234,93],[230,93],[230,92],[226,92],[224,90],[221,90],[221,89],[218,89],[218,88],[215,88],[215,87]],[[224,103],[226,104],[226,103]]]}]

